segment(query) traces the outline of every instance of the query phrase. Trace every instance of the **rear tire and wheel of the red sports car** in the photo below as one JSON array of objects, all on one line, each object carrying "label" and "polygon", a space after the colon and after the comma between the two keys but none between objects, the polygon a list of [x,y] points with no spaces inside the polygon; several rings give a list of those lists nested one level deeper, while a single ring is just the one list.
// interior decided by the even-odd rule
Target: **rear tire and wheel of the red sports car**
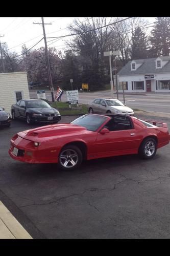
[{"label": "rear tire and wheel of the red sports car", "polygon": [[139,147],[139,156],[143,159],[151,159],[157,151],[157,142],[153,138],[146,138]]}]

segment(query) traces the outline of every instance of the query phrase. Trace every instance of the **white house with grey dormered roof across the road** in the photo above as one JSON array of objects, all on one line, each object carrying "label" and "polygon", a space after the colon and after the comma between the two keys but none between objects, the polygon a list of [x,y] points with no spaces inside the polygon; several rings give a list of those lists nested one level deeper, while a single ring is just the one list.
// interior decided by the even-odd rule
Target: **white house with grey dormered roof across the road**
[{"label": "white house with grey dormered roof across the road", "polygon": [[119,72],[119,90],[125,92],[170,92],[170,57],[129,61]]}]

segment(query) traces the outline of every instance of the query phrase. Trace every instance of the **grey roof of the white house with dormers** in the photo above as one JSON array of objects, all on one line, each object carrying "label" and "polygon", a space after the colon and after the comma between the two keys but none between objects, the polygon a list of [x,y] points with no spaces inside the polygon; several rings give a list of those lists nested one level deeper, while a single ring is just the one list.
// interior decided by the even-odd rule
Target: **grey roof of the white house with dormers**
[{"label": "grey roof of the white house with dormers", "polygon": [[156,69],[155,60],[157,58],[148,58],[148,59],[134,59],[136,63],[142,63],[142,65],[137,70],[131,70],[130,60],[119,72],[119,76],[125,75],[139,75],[139,74],[156,74],[156,73],[170,73],[170,57],[163,56],[160,57],[162,61],[168,62],[161,69]]}]

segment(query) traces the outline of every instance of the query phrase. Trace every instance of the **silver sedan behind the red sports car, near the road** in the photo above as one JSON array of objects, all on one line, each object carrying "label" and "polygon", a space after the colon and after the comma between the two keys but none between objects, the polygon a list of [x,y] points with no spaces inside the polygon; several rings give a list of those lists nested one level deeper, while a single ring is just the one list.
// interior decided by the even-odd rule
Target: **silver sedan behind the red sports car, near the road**
[{"label": "silver sedan behind the red sports car, near the road", "polygon": [[97,98],[88,103],[89,113],[115,113],[134,116],[134,111],[118,99]]}]

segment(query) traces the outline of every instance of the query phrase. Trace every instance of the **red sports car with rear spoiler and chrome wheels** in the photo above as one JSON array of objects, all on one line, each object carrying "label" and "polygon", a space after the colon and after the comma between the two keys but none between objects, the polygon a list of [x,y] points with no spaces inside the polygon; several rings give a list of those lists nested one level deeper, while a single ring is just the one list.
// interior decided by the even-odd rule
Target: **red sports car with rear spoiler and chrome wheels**
[{"label": "red sports car with rear spoiler and chrome wheels", "polygon": [[71,123],[17,133],[11,139],[9,154],[22,162],[58,163],[60,168],[72,170],[83,159],[129,154],[150,159],[169,140],[167,123],[120,114],[86,114]]}]

